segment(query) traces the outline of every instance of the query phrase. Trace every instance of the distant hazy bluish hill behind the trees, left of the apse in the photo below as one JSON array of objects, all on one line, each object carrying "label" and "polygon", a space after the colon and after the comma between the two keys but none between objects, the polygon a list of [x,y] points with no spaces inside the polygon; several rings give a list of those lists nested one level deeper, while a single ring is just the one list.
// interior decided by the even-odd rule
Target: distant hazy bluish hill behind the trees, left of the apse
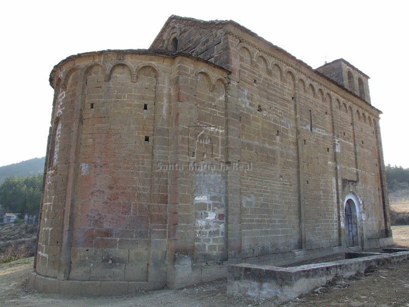
[{"label": "distant hazy bluish hill behind the trees, left of the apse", "polygon": [[43,158],[34,158],[19,163],[14,163],[0,167],[0,182],[4,181],[8,177],[27,177],[36,174],[41,174],[44,171]]}]

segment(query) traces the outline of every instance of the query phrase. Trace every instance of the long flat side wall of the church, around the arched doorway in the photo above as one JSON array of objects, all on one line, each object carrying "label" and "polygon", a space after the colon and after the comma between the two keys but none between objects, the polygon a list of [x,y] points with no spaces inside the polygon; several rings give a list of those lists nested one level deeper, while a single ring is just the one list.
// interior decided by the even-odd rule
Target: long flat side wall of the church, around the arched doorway
[{"label": "long flat side wall of the church, around the arched doorway", "polygon": [[[255,157],[252,170],[270,181],[251,180],[251,189],[261,191],[260,199],[255,199],[255,203],[264,203],[261,212],[265,215],[257,216],[253,223],[246,225],[255,233],[254,238],[248,240],[249,245],[257,246],[266,254],[297,249],[294,246],[306,250],[338,246],[344,237],[343,197],[346,196],[340,193],[342,188],[339,185],[345,180],[361,183],[372,179],[371,184],[376,188],[368,189],[367,184],[361,183],[360,190],[355,192],[362,195],[365,185],[372,196],[378,198],[380,195],[379,156],[373,151],[374,146],[377,147],[377,140],[371,126],[377,120],[377,111],[374,112],[365,103],[359,102],[358,106],[353,96],[346,98],[337,86],[319,75],[312,78],[307,76],[302,67],[293,63],[293,58],[280,51],[272,53],[274,48],[265,46],[265,42],[235,32],[234,29],[226,31],[232,34],[229,69],[233,72],[230,78],[238,81],[237,96],[244,114],[241,117],[241,130],[246,129],[246,118],[255,127],[251,134],[241,133],[240,139],[242,143],[246,139],[253,142],[248,152],[248,155]],[[340,110],[341,105],[345,107],[343,112]],[[358,122],[362,122],[356,127],[353,112],[360,114],[361,121]],[[266,121],[268,117],[270,122]],[[362,143],[363,139],[366,141]],[[242,153],[245,152],[243,149]],[[265,157],[270,159],[267,165],[260,163],[263,162],[264,152]],[[241,161],[244,157],[241,155]],[[291,170],[297,169],[298,173],[291,173]],[[268,174],[269,170],[271,174]],[[358,174],[365,174],[366,178],[360,180]],[[246,177],[249,177],[249,173],[246,173]],[[279,184],[274,183],[274,179]],[[286,180],[288,186],[285,186]],[[241,193],[246,200],[248,196],[244,194],[243,184]],[[269,200],[267,195],[272,195],[274,199]],[[280,203],[285,205],[281,211],[285,212],[283,215],[277,214],[280,212]],[[247,202],[242,201],[242,206],[245,204]],[[363,236],[366,239],[373,228],[373,223],[367,221],[369,215],[378,214],[377,224],[386,220],[382,201],[373,205],[362,210],[362,218],[365,220],[365,225],[362,224],[365,229]],[[266,208],[271,208],[271,212]],[[242,226],[248,216],[242,215]],[[270,226],[260,227],[265,220]],[[270,235],[267,235],[269,232]],[[244,247],[246,240],[243,228],[241,233]],[[261,240],[263,236],[266,236],[265,243]],[[384,234],[378,233],[377,236],[382,237]],[[254,256],[263,256],[252,246],[248,249]]]}]

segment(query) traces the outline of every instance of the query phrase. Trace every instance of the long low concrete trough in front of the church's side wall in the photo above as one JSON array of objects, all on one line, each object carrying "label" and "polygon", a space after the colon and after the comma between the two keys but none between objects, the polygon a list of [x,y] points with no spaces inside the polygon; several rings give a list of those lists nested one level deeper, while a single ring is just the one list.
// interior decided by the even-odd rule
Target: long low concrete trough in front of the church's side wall
[{"label": "long low concrete trough in front of the church's side wall", "polygon": [[[388,251],[389,250],[389,251]],[[409,259],[409,250],[350,252],[346,259],[298,267],[238,264],[228,266],[227,293],[253,299],[291,300],[324,286],[334,277],[350,277],[378,265]]]}]

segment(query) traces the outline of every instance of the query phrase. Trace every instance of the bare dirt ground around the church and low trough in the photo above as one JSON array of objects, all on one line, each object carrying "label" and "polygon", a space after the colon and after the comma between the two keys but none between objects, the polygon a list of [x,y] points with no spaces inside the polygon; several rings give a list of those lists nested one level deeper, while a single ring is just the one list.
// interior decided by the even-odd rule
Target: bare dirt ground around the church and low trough
[{"label": "bare dirt ground around the church and low trough", "polygon": [[[409,226],[394,226],[394,243],[409,248]],[[0,306],[94,307],[253,307],[253,306],[404,306],[409,307],[409,261],[338,279],[287,303],[227,297],[225,279],[180,290],[141,292],[136,296],[83,298],[37,293],[27,288],[33,258],[0,265]]]}]

